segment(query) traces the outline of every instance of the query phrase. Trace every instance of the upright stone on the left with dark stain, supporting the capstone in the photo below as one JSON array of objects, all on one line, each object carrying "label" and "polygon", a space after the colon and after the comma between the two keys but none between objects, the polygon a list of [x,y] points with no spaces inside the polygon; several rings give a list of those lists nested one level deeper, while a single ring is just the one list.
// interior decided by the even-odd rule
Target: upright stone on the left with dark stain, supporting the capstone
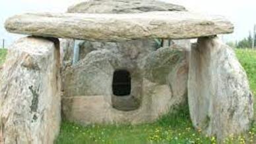
[{"label": "upright stone on the left with dark stain, supporting the capstone", "polygon": [[0,143],[53,143],[59,133],[59,41],[53,41],[25,37],[10,47],[0,76]]}]

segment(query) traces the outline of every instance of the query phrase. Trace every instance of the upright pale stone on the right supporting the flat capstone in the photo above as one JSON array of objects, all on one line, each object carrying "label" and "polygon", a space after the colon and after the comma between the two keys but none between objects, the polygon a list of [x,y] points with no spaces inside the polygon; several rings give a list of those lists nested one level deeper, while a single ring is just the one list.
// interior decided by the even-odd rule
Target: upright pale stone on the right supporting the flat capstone
[{"label": "upright pale stone on the right supporting the flat capstone", "polygon": [[248,130],[253,96],[234,51],[216,38],[199,38],[189,60],[188,99],[196,128],[222,139]]}]

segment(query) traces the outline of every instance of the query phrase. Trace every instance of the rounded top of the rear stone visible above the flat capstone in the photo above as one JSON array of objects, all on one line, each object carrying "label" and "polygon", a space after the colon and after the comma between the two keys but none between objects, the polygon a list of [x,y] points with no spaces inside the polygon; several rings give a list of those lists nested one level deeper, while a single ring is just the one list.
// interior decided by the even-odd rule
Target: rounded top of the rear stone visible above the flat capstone
[{"label": "rounded top of the rear stone visible above the flat capstone", "polygon": [[102,0],[86,1],[69,7],[68,12],[74,13],[140,13],[149,11],[186,11],[184,7],[154,0]]}]

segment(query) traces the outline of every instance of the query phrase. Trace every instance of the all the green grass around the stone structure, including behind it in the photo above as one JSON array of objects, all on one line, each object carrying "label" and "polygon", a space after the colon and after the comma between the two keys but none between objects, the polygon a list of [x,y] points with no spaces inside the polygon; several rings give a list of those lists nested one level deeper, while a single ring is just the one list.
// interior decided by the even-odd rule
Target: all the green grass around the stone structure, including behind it
[{"label": "all the green grass around the stone structure, including behind it", "polygon": [[[245,68],[251,90],[256,95],[256,51],[237,49],[238,59]],[[0,50],[0,65],[6,51]],[[256,98],[255,98],[256,99]],[[189,120],[188,107],[183,107],[175,114],[167,114],[157,122],[140,125],[119,126],[80,126],[71,122],[62,122],[61,132],[56,144],[79,143],[216,143],[215,137],[203,135],[195,130]],[[256,124],[249,132],[230,135],[224,143],[256,143]]]}]

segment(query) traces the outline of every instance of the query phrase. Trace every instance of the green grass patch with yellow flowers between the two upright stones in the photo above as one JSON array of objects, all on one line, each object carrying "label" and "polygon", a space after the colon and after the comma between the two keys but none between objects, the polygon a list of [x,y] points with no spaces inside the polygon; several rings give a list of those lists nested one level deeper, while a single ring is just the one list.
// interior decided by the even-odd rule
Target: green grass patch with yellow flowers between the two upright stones
[{"label": "green grass patch with yellow flowers between the two upright stones", "polygon": [[136,126],[87,126],[63,122],[55,143],[212,143],[215,137],[205,137],[194,130],[187,107],[176,114],[163,116],[157,122]]}]

